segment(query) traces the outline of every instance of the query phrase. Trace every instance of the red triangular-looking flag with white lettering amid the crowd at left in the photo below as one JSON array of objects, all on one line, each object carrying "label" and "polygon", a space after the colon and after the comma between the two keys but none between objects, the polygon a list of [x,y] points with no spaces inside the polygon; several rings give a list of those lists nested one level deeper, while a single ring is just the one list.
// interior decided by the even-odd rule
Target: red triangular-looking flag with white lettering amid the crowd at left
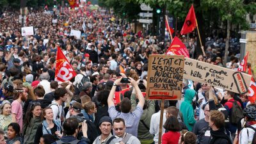
[{"label": "red triangular-looking flag with white lettering amid the crowd at left", "polygon": [[55,77],[58,81],[68,81],[72,79],[72,77],[76,76],[76,72],[71,67],[70,63],[68,63],[67,58],[61,51],[60,47],[58,47],[57,51],[57,60],[56,60],[56,70]]}]

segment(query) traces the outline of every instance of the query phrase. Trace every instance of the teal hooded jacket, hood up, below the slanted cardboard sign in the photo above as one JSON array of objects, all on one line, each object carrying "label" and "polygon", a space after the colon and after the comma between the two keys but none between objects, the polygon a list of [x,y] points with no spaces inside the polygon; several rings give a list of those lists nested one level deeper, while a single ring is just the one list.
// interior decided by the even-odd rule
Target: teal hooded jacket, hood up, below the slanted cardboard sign
[{"label": "teal hooded jacket, hood up, below the slanted cardboard sign", "polygon": [[194,124],[196,123],[194,117],[194,109],[192,106],[192,100],[195,97],[195,90],[187,89],[184,101],[180,104],[180,112],[183,115],[184,123],[188,127],[189,131],[192,131]]}]

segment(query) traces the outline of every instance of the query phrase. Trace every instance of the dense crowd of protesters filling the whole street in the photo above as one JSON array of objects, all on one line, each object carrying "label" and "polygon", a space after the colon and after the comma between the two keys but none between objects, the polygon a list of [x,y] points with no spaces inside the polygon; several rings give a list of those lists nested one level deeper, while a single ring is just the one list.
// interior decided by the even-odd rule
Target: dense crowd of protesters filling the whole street
[{"label": "dense crowd of protesters filling the whole street", "polygon": [[[134,33],[129,22],[97,10],[84,16],[66,9],[29,11],[25,26],[33,26],[35,35],[21,35],[19,12],[1,13],[0,144],[159,142],[161,101],[144,98],[148,56],[163,54],[170,42],[164,46],[156,36]],[[81,38],[70,36],[71,29]],[[237,70],[237,39],[223,65],[221,35],[209,35],[197,58],[195,33],[180,39],[191,58]],[[70,81],[55,81],[58,47],[77,73]],[[256,142],[256,105],[247,93],[182,83],[182,100],[164,101],[163,144]]]}]

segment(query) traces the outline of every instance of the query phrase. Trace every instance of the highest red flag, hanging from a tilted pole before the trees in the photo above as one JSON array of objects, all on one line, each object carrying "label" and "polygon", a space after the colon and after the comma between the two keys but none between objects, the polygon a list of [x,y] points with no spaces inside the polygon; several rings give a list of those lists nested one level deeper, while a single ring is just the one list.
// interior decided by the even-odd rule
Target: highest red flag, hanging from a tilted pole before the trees
[{"label": "highest red flag, hanging from a tilted pole before the trees", "polygon": [[194,6],[192,5],[186,17],[186,20],[183,24],[183,27],[180,31],[180,34],[186,35],[187,33],[190,33],[191,31],[193,31],[196,28],[196,26],[197,26],[196,15],[195,15]]}]

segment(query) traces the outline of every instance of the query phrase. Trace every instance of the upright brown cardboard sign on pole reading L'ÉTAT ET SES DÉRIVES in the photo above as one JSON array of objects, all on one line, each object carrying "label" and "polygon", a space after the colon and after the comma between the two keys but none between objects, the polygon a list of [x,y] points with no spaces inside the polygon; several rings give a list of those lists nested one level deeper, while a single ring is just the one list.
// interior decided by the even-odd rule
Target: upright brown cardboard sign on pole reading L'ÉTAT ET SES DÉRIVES
[{"label": "upright brown cardboard sign on pole reading L'\u00c9TAT ET SES D\u00c9RIVES", "polygon": [[180,100],[184,56],[150,55],[148,61],[148,99]]}]

